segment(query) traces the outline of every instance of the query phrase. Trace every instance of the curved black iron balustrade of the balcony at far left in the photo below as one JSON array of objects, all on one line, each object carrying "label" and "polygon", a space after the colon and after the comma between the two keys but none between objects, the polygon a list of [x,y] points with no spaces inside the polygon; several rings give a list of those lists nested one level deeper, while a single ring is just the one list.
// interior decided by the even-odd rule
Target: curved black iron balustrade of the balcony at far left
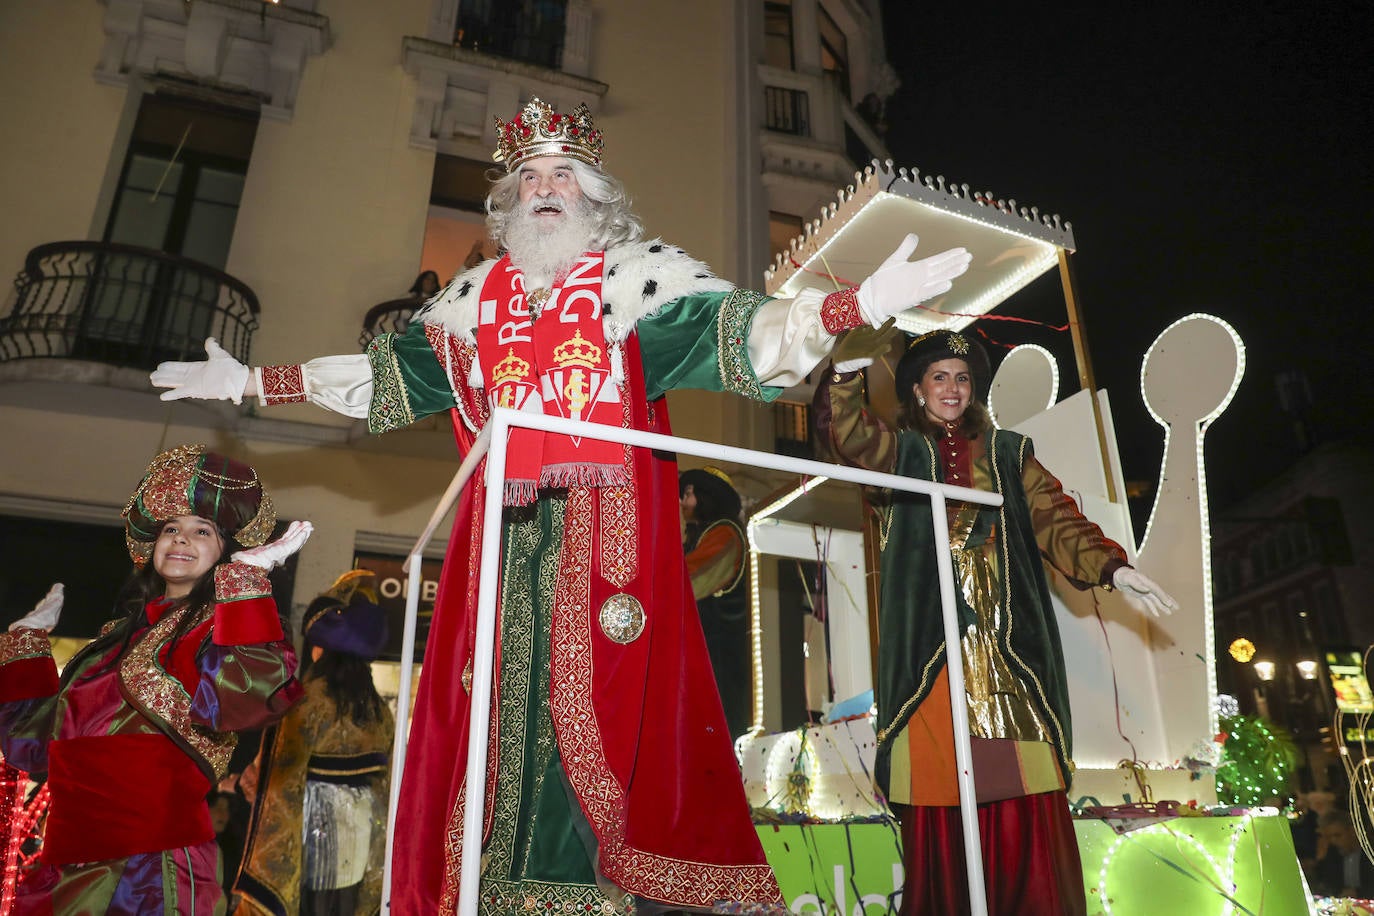
[{"label": "curved black iron balustrade of the balcony at far left", "polygon": [[51,242],[29,251],[0,313],[0,361],[69,358],[151,369],[205,358],[213,336],[249,361],[258,302],[245,283],[199,261],[110,242]]}]

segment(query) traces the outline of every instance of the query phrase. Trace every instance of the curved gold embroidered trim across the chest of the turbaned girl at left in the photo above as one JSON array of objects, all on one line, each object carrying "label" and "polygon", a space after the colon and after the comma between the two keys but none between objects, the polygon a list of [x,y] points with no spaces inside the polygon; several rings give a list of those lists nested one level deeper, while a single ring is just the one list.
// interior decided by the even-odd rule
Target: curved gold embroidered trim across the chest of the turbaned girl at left
[{"label": "curved gold embroidered trim across the chest of the turbaned girl at left", "polygon": [[[154,721],[164,722],[194,754],[198,754],[214,775],[213,781],[229,772],[229,757],[239,736],[234,732],[212,732],[191,721],[191,695],[176,677],[162,667],[158,651],[172,637],[172,630],[191,611],[185,607],[166,614],[153,625],[120,663],[120,680],[126,695]],[[192,628],[194,632],[194,628]],[[187,639],[194,639],[188,634]]]}]

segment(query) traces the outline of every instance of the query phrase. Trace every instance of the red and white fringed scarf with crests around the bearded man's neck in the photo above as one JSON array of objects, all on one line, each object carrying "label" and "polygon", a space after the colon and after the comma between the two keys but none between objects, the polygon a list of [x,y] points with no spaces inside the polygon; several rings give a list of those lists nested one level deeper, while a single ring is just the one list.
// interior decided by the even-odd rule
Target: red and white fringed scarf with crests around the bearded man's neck
[{"label": "red and white fringed scarf with crests around the bearded man's neck", "polygon": [[[556,413],[618,427],[621,391],[611,382],[602,328],[605,253],[588,251],[533,310],[525,277],[502,257],[482,284],[477,358],[492,407]],[[507,505],[534,501],[539,488],[625,483],[616,442],[514,430],[506,452]]]}]

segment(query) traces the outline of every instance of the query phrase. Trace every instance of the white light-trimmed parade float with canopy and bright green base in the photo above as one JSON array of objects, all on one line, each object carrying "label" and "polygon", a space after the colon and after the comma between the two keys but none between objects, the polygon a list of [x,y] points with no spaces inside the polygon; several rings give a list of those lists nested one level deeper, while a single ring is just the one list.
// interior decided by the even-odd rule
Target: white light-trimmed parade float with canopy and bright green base
[{"label": "white light-trimmed parade float with canopy and bright green base", "polygon": [[[1035,439],[1037,457],[1083,512],[1180,603],[1171,617],[1147,618],[1117,595],[1098,592],[1094,600],[1051,573],[1063,651],[1072,659],[1076,770],[1069,798],[1088,912],[1316,912],[1287,820],[1275,808],[1219,805],[1216,791],[1224,736],[1202,446],[1243,374],[1241,339],[1220,319],[1190,314],[1161,328],[1142,354],[1140,397],[1161,427],[1164,457],[1150,520],[1138,538],[1110,398],[1096,390],[1083,334],[1070,224],[966,184],[875,162],[778,255],[767,291],[829,290],[867,276],[881,260],[874,253],[892,250],[907,232],[921,236],[923,250],[963,246],[974,254],[954,290],[899,316],[910,334],[966,327],[1059,268],[1081,390],[1061,400],[1052,356],[1022,346],[1002,360],[989,408],[999,426]],[[749,519],[756,729],[738,750],[789,906],[859,915],[894,905],[903,867],[896,823],[871,780],[877,742],[868,706],[874,639],[881,634],[871,623],[877,589],[868,586],[877,566],[866,556],[874,552],[866,551],[861,530],[813,523],[813,501],[824,486],[835,485],[809,478]],[[767,733],[763,641],[776,595],[758,588],[757,570],[769,556],[818,560],[820,544],[835,705],[820,725]]]}]

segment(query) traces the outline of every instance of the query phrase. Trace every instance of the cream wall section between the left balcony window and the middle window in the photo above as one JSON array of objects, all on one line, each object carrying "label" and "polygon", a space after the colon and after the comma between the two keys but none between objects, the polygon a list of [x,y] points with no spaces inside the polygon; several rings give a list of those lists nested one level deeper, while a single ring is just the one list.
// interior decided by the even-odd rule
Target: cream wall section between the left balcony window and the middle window
[{"label": "cream wall section between the left balcony window and the middle window", "polygon": [[305,65],[295,115],[258,126],[225,268],[262,306],[256,363],[357,352],[367,309],[419,273],[434,154],[409,144],[401,37],[429,5],[328,3],[334,44]]}]

